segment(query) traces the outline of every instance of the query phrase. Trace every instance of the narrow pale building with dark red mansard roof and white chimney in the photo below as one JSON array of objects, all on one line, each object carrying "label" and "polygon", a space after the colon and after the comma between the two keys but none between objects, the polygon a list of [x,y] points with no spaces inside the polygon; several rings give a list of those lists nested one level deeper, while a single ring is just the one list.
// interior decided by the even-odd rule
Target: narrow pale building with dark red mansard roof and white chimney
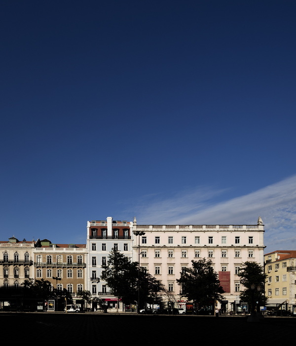
[{"label": "narrow pale building with dark red mansard roof and white chimney", "polygon": [[[118,308],[117,298],[112,295],[102,275],[112,248],[132,259],[132,222],[113,220],[93,220],[87,222],[87,290],[93,298],[100,298],[108,308]],[[93,304],[93,308],[96,308]],[[120,306],[121,308],[121,306]]]}]

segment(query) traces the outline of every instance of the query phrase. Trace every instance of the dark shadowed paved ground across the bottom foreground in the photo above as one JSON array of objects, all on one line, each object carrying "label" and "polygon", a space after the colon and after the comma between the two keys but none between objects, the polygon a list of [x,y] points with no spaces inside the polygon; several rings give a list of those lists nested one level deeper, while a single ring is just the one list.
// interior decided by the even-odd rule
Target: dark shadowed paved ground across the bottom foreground
[{"label": "dark shadowed paved ground across the bottom foreground", "polygon": [[4,334],[18,342],[33,338],[43,345],[274,345],[294,342],[296,330],[293,317],[250,323],[242,316],[1,312],[0,321]]}]

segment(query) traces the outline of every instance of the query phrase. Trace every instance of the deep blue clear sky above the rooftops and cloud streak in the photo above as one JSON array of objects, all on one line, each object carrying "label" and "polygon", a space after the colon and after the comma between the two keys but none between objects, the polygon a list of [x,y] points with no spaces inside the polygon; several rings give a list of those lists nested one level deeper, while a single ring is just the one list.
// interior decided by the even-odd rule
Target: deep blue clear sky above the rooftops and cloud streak
[{"label": "deep blue clear sky above the rooftops and cloud streak", "polygon": [[202,211],[296,174],[295,18],[292,0],[1,0],[1,239],[195,207],[268,236],[263,209]]}]

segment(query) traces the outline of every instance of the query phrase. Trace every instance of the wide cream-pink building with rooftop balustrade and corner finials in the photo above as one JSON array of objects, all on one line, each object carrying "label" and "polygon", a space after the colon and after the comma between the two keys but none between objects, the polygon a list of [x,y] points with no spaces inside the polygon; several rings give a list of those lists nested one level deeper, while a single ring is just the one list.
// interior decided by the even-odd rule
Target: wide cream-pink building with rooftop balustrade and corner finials
[{"label": "wide cream-pink building with rooftop balustrade and corner finials", "polygon": [[[245,261],[264,263],[264,225],[259,216],[254,225],[140,225],[133,222],[133,261],[161,280],[170,300],[184,302],[180,286],[183,268],[191,260],[210,259],[225,293],[221,309],[227,313],[239,308],[238,272]],[[138,243],[140,241],[140,244]],[[139,247],[140,245],[140,247]]]}]

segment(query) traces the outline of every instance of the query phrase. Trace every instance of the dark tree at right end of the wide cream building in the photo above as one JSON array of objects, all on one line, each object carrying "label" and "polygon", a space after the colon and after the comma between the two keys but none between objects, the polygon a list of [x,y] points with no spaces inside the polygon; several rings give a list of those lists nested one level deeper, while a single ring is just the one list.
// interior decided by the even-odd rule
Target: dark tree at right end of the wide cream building
[{"label": "dark tree at right end of the wide cream building", "polygon": [[264,294],[267,274],[264,274],[262,265],[252,261],[244,262],[238,276],[241,285],[245,287],[240,293],[241,301],[249,303],[252,311],[255,310],[256,302],[264,305],[268,300]]}]

